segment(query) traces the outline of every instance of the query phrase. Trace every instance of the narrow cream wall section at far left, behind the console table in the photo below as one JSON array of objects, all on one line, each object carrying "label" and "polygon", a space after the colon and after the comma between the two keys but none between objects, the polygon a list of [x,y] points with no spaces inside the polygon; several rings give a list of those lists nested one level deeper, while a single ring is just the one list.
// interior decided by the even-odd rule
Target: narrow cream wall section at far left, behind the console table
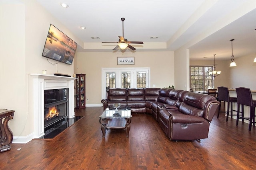
[{"label": "narrow cream wall section at far left, behind the console table", "polygon": [[[28,113],[26,102],[25,6],[1,2],[0,9],[0,108],[12,109],[9,121],[14,135],[24,135],[31,128],[24,127]],[[31,118],[28,117],[28,121]],[[16,124],[19,124],[16,126]]]}]

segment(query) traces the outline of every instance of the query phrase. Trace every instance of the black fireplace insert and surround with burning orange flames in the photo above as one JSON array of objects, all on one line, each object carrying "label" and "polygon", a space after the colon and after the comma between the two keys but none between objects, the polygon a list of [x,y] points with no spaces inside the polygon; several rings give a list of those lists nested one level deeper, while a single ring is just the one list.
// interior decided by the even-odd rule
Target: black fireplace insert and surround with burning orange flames
[{"label": "black fireplace insert and surround with burning orange flames", "polygon": [[68,116],[68,88],[44,90],[45,131]]}]

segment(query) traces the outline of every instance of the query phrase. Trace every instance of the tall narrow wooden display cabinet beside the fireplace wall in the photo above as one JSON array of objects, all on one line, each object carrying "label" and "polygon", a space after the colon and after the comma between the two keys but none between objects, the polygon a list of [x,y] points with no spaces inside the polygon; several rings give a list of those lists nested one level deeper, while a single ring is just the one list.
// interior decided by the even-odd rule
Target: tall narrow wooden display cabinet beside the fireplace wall
[{"label": "tall narrow wooden display cabinet beside the fireplace wall", "polygon": [[76,108],[85,108],[86,95],[85,95],[85,76],[86,74],[76,74]]}]

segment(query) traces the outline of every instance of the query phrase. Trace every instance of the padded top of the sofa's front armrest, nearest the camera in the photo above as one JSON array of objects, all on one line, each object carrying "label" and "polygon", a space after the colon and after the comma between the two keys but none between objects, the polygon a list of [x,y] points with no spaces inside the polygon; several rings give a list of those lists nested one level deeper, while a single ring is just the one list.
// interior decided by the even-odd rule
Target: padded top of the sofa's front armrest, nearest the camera
[{"label": "padded top of the sofa's front armrest, nearest the camera", "polygon": [[193,116],[193,115],[185,115],[185,114],[177,114],[170,113],[170,117],[172,119],[172,123],[202,123],[205,121],[203,117]]}]

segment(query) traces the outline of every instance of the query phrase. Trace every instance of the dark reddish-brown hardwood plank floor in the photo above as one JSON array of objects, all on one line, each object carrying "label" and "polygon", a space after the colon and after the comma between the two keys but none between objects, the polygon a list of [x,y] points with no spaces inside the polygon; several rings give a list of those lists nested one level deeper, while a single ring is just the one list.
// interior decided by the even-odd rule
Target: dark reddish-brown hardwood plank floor
[{"label": "dark reddish-brown hardwood plank floor", "polygon": [[[214,116],[208,139],[171,141],[148,114],[133,114],[130,136],[110,129],[102,138],[102,107],[76,109],[84,116],[52,140],[11,144],[0,153],[1,170],[255,170],[256,128],[224,113]],[[17,150],[19,149],[20,150]]]}]

